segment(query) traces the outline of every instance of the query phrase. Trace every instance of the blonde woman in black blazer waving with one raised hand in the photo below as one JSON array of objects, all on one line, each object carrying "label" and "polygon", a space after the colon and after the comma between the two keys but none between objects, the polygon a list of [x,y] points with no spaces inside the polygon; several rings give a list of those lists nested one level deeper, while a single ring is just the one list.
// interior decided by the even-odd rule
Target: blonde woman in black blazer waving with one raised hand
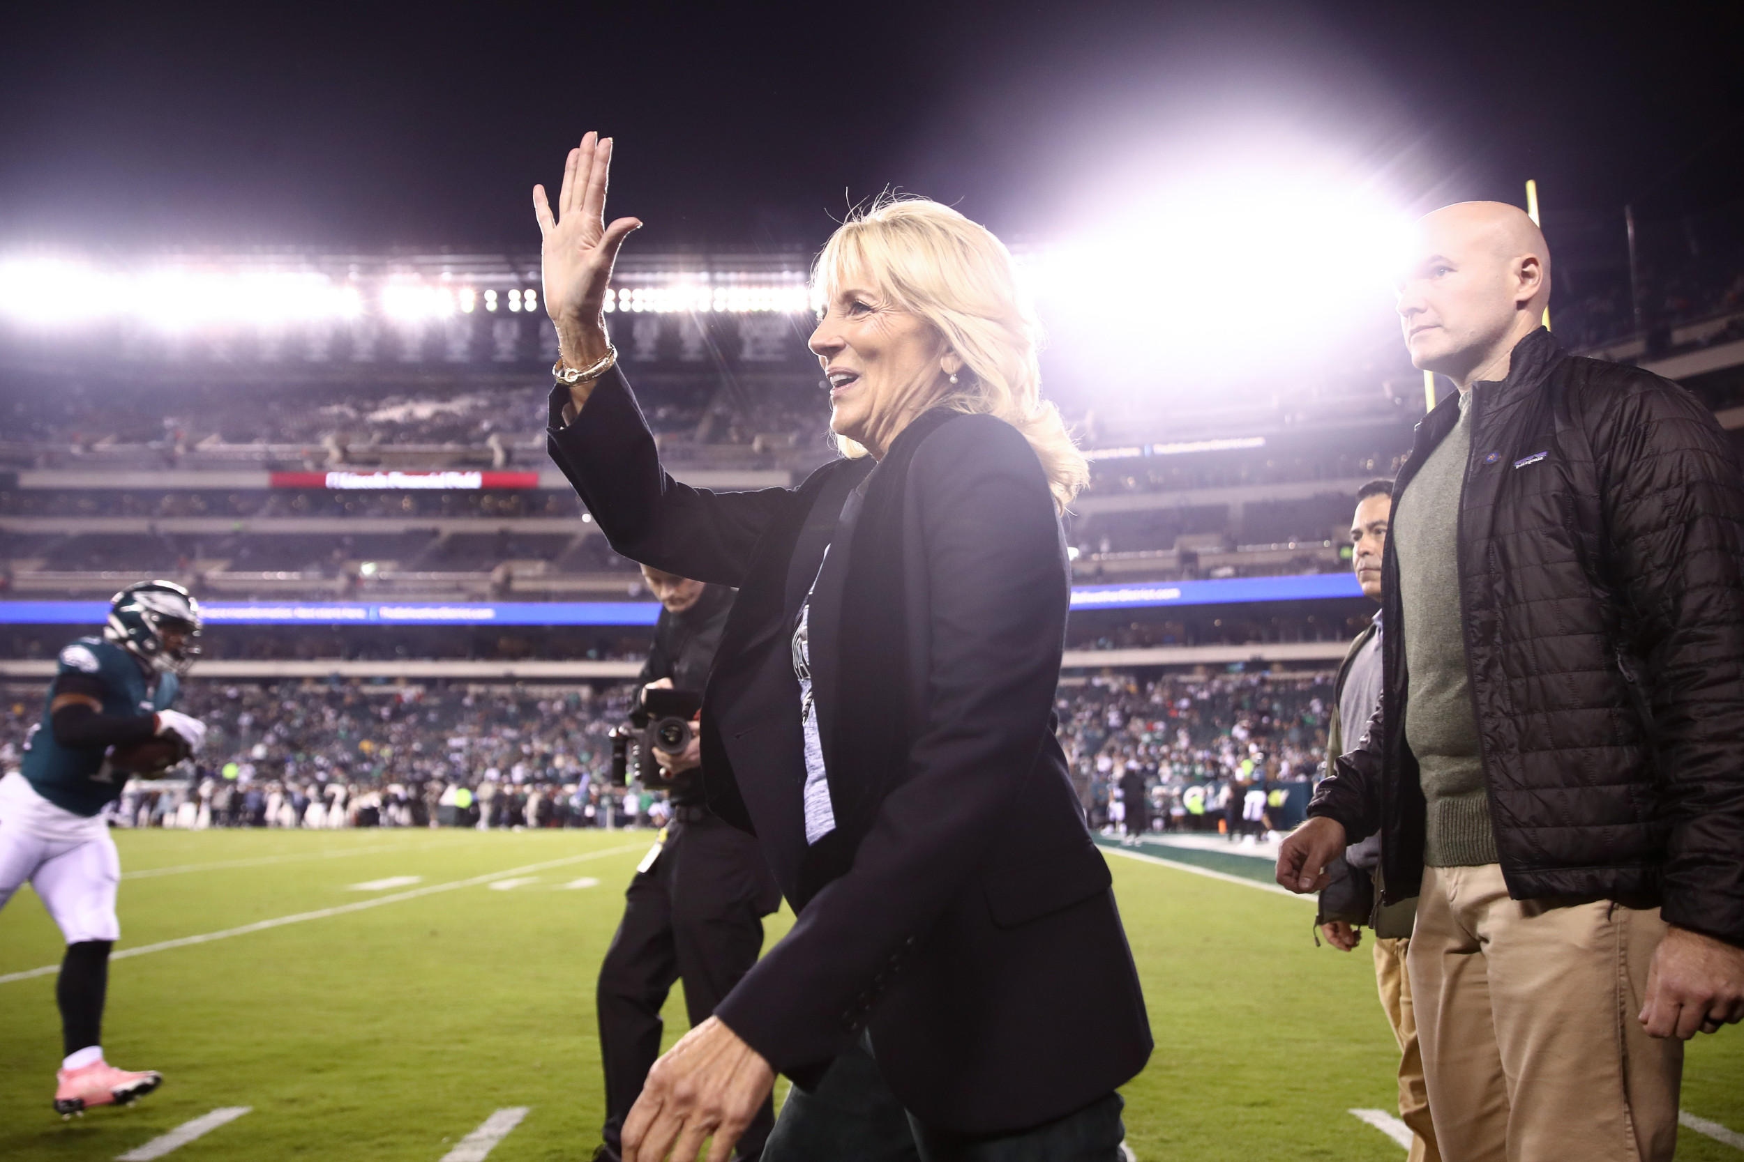
[{"label": "blonde woman in black blazer waving with one raised hand", "polygon": [[724,1162],[787,1073],[767,1162],[1113,1162],[1151,1051],[1109,873],[1053,739],[1060,512],[1085,462],[1043,402],[1005,246],[893,200],[818,258],[811,350],[844,451],[799,488],[668,476],[602,305],[610,139],[544,230],[549,451],[612,547],[739,589],[703,704],[710,808],[797,913],[649,1073],[624,1159]]}]

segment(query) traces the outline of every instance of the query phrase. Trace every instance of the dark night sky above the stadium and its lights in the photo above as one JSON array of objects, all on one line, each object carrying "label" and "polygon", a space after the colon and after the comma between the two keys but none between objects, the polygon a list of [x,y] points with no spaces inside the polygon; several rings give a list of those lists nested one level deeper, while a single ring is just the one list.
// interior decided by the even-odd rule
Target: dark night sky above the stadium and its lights
[{"label": "dark night sky above the stadium and its lights", "polygon": [[534,246],[586,129],[645,249],[811,246],[884,186],[1045,237],[1280,134],[1411,207],[1676,216],[1744,199],[1741,61],[1737,2],[14,3],[0,246]]}]

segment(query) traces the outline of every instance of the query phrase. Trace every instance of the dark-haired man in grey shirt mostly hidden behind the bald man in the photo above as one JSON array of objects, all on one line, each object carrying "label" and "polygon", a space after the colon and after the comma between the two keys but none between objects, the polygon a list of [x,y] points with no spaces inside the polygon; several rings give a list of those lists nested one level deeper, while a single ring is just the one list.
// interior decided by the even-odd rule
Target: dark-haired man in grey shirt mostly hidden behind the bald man
[{"label": "dark-haired man in grey shirt mostly hidden behind the bald man", "polygon": [[[1362,585],[1364,596],[1373,601],[1381,599],[1381,552],[1386,545],[1386,526],[1392,516],[1392,481],[1369,481],[1357,490],[1357,514],[1350,521],[1350,542],[1357,584]],[[1360,732],[1367,728],[1374,709],[1381,704],[1381,615],[1376,611],[1369,627],[1350,643],[1345,664],[1338,667],[1338,681],[1332,686],[1332,721],[1327,725],[1327,774],[1332,774],[1331,768],[1339,754],[1360,742]],[[1350,737],[1350,730],[1355,730],[1357,735]],[[1411,1005],[1411,974],[1406,972],[1416,901],[1399,901],[1390,908],[1376,906],[1373,878],[1381,861],[1380,831],[1362,843],[1353,843],[1345,852],[1345,859],[1350,862],[1350,871],[1355,873],[1348,882],[1359,888],[1345,894],[1352,915],[1327,920],[1320,925],[1320,932],[1325,934],[1332,948],[1348,953],[1362,941],[1355,925],[1366,923],[1374,930],[1374,984],[1381,995],[1386,1023],[1393,1028],[1393,1040],[1399,1042],[1399,1118],[1411,1127],[1411,1155],[1406,1162],[1439,1162],[1435,1127],[1428,1117],[1428,1092],[1423,1089],[1423,1054],[1418,1047],[1416,1014]],[[1339,875],[1332,873],[1332,880],[1336,883]],[[1320,894],[1322,915],[1329,915],[1332,909],[1329,897],[1331,888]]]}]

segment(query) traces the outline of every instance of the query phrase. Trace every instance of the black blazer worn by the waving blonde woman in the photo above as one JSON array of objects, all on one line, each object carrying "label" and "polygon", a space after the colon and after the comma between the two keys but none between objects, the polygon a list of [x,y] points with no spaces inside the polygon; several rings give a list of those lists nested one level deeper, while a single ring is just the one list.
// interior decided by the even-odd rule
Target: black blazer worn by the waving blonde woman
[{"label": "black blazer worn by the waving blonde woman", "polygon": [[[715,493],[661,470],[621,373],[581,416],[567,406],[560,385],[551,458],[612,547],[739,589],[705,692],[703,780],[799,918],[717,1016],[802,1085],[870,1026],[903,1106],[963,1132],[1034,1125],[1134,1077],[1151,1031],[1053,737],[1071,587],[1022,434],[935,409],[879,463]],[[790,639],[813,582],[837,828],[807,847]]]}]

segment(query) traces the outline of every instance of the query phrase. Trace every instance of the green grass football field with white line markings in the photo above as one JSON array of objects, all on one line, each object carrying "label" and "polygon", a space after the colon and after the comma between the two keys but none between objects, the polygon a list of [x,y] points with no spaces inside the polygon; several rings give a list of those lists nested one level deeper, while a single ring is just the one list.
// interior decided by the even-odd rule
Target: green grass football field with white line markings
[{"label": "green grass football field with white line markings", "polygon": [[[72,1122],[49,1108],[54,976],[0,983],[0,1159],[115,1159],[218,1106],[253,1113],[174,1162],[438,1162],[502,1106],[532,1111],[492,1162],[589,1157],[602,1101],[593,976],[649,833],[115,838],[127,876],[119,949],[387,902],[117,960],[105,1047],[166,1082],[136,1106]],[[1156,1033],[1149,1068],[1125,1089],[1137,1157],[1402,1159],[1346,1113],[1393,1106],[1395,1049],[1366,951],[1315,948],[1313,909],[1298,899],[1109,862]],[[351,887],[398,876],[420,880]],[[466,883],[481,876],[518,883]],[[598,883],[572,887],[584,878]],[[787,923],[771,920],[771,942]],[[21,892],[0,913],[0,976],[59,955],[59,934]],[[666,1017],[678,1037],[677,991]],[[1690,1047],[1683,1106],[1744,1131],[1744,1028]],[[1679,1159],[1744,1153],[1685,1129]]]}]

